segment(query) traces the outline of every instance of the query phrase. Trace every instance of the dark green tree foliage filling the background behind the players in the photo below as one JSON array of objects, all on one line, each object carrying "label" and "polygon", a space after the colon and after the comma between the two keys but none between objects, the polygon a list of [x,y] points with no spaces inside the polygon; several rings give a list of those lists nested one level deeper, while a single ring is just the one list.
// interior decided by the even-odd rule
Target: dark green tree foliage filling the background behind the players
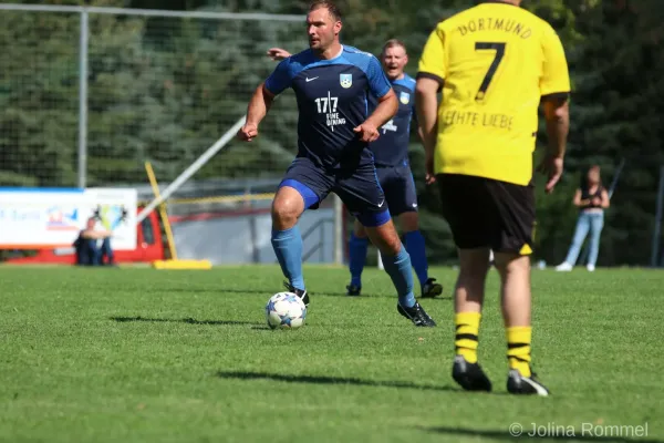
[{"label": "dark green tree foliage filling the background behind the players", "polygon": [[[61,2],[60,2],[61,3]],[[75,2],[70,2],[75,3]],[[303,14],[298,0],[97,0],[94,6]],[[402,39],[416,73],[435,24],[468,0],[346,0],[343,42],[378,53]],[[572,76],[566,175],[552,195],[538,187],[537,258],[562,260],[574,228],[571,196],[587,166],[602,166],[605,184],[624,158],[606,213],[600,265],[650,259],[660,168],[664,164],[664,37],[660,0],[527,0],[523,6],[561,35]],[[77,14],[0,14],[0,185],[76,184],[79,124]],[[91,14],[89,62],[89,185],[145,181],[143,162],[173,179],[246,110],[274,68],[272,45],[305,48],[302,23],[183,20]],[[297,125],[292,93],[278,99],[252,144],[231,143],[195,178],[278,177],[290,163]],[[536,158],[546,146],[543,122]],[[424,185],[423,150],[412,165],[429,259],[456,259],[437,190]],[[541,178],[538,178],[541,182]],[[540,183],[541,184],[541,183]]]}]

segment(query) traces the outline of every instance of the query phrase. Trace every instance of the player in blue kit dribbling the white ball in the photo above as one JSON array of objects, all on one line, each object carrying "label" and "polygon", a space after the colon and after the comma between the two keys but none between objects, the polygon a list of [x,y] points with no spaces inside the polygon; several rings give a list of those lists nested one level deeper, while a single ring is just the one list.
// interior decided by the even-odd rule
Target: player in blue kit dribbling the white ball
[{"label": "player in blue kit dribbling the white ball", "polygon": [[[398,102],[378,60],[342,45],[341,13],[330,0],[311,2],[307,16],[309,49],[290,56],[253,93],[238,137],[250,142],[276,95],[291,87],[297,97],[298,155],[272,202],[272,247],[287,288],[309,305],[302,276],[298,219],[335,193],[381,250],[398,296],[397,310],[415,326],[434,327],[413,292],[411,257],[396,233],[376,178],[369,143],[392,119]],[[377,105],[369,114],[369,97]]]}]

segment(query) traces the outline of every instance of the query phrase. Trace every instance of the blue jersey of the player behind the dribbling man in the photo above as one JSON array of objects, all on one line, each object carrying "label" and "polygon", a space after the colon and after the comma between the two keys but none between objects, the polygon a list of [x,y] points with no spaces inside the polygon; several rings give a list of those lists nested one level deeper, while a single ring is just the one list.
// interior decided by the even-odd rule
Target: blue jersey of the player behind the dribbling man
[{"label": "blue jersey of the player behind the dribbling man", "polygon": [[[411,120],[415,113],[415,80],[404,74],[403,79],[392,82],[398,100],[396,115],[385,123],[378,132],[378,140],[370,144],[376,165],[403,166],[408,164],[408,142],[411,140]],[[370,99],[370,109],[375,100]]]}]

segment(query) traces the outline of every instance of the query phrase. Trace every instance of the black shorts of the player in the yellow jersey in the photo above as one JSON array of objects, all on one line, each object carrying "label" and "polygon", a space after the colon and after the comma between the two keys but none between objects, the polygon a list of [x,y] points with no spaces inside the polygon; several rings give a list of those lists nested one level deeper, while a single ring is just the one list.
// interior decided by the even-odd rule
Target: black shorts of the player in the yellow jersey
[{"label": "black shorts of the player in the yellow jersey", "polygon": [[495,253],[532,254],[535,185],[439,174],[443,216],[460,249],[491,248]]}]

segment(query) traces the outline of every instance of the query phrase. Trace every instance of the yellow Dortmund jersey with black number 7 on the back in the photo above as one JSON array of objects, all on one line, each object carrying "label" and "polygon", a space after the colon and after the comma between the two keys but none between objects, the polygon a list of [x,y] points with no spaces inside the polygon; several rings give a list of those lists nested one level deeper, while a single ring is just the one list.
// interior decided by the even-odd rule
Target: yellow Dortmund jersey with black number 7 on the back
[{"label": "yellow Dortmund jersey with black number 7 on the back", "polygon": [[540,100],[570,92],[562,43],[546,21],[497,0],[467,9],[438,23],[417,75],[443,85],[436,174],[531,181]]}]

